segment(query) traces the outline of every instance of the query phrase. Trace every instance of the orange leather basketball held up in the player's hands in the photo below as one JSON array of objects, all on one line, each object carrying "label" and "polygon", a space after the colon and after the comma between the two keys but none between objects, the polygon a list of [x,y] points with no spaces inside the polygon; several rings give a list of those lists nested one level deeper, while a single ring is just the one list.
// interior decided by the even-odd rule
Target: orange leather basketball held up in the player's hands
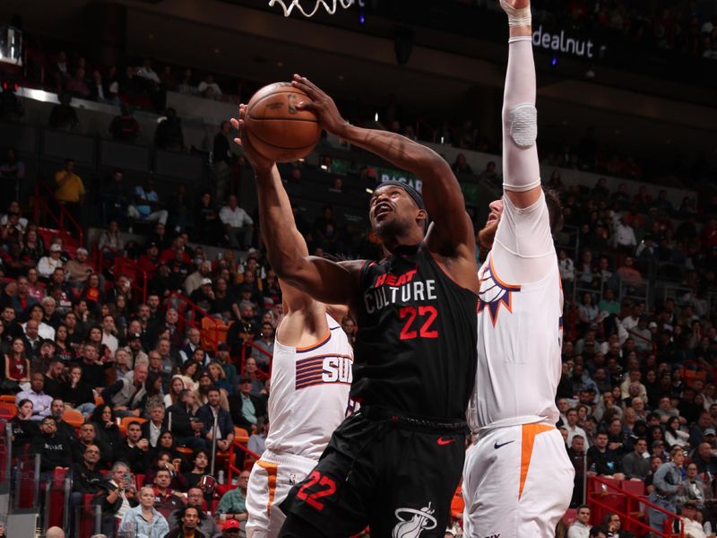
[{"label": "orange leather basketball held up in the player's hands", "polygon": [[302,100],[309,100],[307,94],[290,82],[264,86],[249,100],[244,135],[266,159],[298,161],[319,141],[321,126],[316,115],[297,108]]}]

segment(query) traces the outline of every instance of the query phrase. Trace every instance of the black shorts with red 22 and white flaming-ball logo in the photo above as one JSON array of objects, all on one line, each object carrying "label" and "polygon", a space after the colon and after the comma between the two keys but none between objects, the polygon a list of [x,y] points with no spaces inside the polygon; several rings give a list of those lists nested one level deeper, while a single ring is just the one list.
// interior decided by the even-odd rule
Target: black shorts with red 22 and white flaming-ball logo
[{"label": "black shorts with red 22 and white flaming-ball logo", "polygon": [[[463,421],[362,408],[333,432],[319,463],[281,504],[312,536],[443,538],[465,457]],[[302,535],[302,534],[293,534]],[[302,535],[303,536],[303,535]]]}]

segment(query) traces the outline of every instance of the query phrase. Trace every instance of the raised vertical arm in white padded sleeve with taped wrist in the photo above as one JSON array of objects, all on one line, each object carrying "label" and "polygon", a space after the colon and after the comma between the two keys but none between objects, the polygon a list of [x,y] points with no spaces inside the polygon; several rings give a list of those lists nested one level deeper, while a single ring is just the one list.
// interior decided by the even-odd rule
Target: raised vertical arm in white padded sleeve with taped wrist
[{"label": "raised vertical arm in white padded sleeve with taped wrist", "polygon": [[503,188],[515,207],[540,199],[540,163],[535,141],[535,63],[530,0],[500,0],[508,15],[508,69],[503,95]]}]

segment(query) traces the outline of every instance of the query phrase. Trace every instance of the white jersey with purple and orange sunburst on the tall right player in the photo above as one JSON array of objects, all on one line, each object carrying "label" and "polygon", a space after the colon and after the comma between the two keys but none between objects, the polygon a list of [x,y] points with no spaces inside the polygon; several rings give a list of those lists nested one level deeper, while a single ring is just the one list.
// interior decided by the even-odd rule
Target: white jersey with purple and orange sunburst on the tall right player
[{"label": "white jersey with purple and orange sunburst on the tall right player", "polygon": [[[558,419],[563,291],[548,208],[542,196],[525,210],[506,196],[504,204],[493,250],[479,270],[478,369],[468,410],[473,432]],[[505,273],[515,274],[516,266],[517,273],[538,267],[540,280],[507,281]]]}]

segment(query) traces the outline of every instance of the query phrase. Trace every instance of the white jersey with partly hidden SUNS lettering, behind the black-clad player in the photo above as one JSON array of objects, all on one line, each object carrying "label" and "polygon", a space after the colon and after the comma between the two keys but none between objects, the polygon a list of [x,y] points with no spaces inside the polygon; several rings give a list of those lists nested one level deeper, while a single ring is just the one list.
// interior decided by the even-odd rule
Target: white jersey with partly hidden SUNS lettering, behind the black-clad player
[{"label": "white jersey with partly hidden SUNS lettering, behind the black-clad player", "polygon": [[350,409],[353,349],[333,317],[329,334],[307,348],[274,343],[266,447],[318,460]]}]

